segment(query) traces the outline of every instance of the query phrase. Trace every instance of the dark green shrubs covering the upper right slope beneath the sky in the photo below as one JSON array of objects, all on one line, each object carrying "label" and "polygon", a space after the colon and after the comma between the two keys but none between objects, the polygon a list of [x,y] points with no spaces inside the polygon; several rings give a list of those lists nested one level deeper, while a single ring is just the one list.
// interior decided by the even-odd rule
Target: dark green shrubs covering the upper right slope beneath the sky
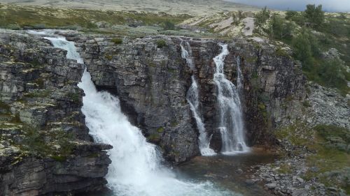
[{"label": "dark green shrubs covering the upper right slope beneath the sky", "polygon": [[[350,65],[348,14],[325,14],[321,5],[307,5],[304,12],[287,11],[283,18],[278,13],[270,15],[264,8],[255,15],[255,23],[258,27],[255,33],[267,35],[293,49],[293,58],[301,61],[308,80],[336,88],[343,95],[349,93],[350,73],[346,71],[346,66],[349,68]],[[325,56],[323,53],[330,48],[344,55]],[[279,49],[281,47],[277,48],[276,54],[285,56]]]}]

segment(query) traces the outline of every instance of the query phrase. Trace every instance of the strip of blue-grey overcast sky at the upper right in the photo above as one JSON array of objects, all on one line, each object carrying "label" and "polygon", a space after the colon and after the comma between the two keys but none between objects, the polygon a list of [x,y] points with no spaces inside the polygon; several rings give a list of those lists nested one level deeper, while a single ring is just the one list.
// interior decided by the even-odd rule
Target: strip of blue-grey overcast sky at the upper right
[{"label": "strip of blue-grey overcast sky at the upper right", "polygon": [[322,4],[323,10],[350,12],[350,0],[226,0],[280,10],[304,10],[307,4]]}]

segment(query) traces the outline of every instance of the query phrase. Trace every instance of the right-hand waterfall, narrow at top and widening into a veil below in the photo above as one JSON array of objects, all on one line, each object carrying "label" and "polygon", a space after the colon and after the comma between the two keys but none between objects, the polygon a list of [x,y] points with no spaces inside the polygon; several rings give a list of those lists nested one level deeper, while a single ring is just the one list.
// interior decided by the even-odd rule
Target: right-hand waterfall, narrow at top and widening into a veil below
[{"label": "right-hand waterfall, narrow at top and widening into a veil below", "polygon": [[218,89],[218,107],[220,111],[219,130],[223,140],[222,153],[234,154],[246,152],[248,147],[244,142],[244,123],[241,110],[239,91],[243,86],[242,74],[237,57],[237,88],[224,73],[224,60],[228,55],[228,45],[221,45],[221,53],[214,58],[216,73],[214,82]]}]

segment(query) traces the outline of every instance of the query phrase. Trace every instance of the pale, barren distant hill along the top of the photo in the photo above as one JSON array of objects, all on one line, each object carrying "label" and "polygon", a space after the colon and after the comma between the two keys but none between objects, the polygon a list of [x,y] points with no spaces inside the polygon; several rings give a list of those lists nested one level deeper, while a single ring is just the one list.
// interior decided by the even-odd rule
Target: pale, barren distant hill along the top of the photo
[{"label": "pale, barren distant hill along the top of the photo", "polygon": [[23,6],[49,6],[58,8],[87,8],[97,10],[136,10],[147,12],[186,13],[207,15],[232,10],[258,10],[254,6],[222,0],[2,0]]}]

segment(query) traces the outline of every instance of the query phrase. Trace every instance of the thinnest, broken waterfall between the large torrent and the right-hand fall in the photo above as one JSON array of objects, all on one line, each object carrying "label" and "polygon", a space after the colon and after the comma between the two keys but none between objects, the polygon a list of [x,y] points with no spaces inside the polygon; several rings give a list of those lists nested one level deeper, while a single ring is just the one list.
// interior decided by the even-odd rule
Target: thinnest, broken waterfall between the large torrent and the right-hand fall
[{"label": "thinnest, broken waterfall between the large torrent and the right-hand fall", "polygon": [[[185,43],[186,45],[184,46],[183,43]],[[182,58],[186,59],[187,65],[190,67],[191,70],[193,70],[195,66],[193,64],[193,56],[190,43],[182,41],[180,46]],[[202,154],[202,156],[214,156],[216,155],[216,153],[213,149],[210,149],[209,147],[210,138],[208,138],[207,132],[205,131],[204,123],[202,121],[199,100],[200,89],[198,89],[197,81],[195,79],[194,74],[192,75],[191,80],[192,84],[190,86],[190,89],[188,89],[186,98],[188,103],[190,104],[190,109],[193,113],[193,116],[195,117],[197,129],[200,131],[200,153]]]}]

